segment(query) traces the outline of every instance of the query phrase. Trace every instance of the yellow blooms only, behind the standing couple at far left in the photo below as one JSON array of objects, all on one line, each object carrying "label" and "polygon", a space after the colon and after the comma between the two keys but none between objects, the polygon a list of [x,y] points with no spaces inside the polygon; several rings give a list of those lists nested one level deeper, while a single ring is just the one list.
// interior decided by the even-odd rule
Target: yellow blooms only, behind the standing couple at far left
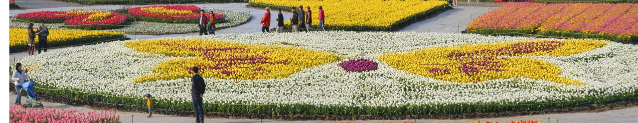
[{"label": "yellow blooms only, behind the standing couple at far left", "polygon": [[[34,29],[35,31],[35,29]],[[103,35],[120,35],[123,32],[114,31],[85,31],[85,30],[60,30],[49,29],[47,36],[48,43],[63,42],[67,40],[75,40],[87,36],[103,36]],[[10,28],[9,29],[9,47],[16,45],[27,45],[27,39],[29,38],[27,29],[23,28]],[[38,44],[38,36],[34,39]]]}]

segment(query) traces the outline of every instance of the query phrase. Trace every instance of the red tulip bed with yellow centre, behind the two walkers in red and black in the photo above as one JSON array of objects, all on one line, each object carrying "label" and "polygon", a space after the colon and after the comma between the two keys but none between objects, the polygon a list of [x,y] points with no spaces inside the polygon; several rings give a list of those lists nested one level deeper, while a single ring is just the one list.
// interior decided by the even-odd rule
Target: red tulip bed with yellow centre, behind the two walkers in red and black
[{"label": "red tulip bed with yellow centre, behind the two walkers in red and black", "polygon": [[[194,5],[156,5],[130,8],[128,13],[148,22],[197,24],[200,10],[202,9]],[[211,14],[208,11],[205,12],[204,16],[211,18]],[[215,13],[217,22],[224,18],[226,15]]]}]

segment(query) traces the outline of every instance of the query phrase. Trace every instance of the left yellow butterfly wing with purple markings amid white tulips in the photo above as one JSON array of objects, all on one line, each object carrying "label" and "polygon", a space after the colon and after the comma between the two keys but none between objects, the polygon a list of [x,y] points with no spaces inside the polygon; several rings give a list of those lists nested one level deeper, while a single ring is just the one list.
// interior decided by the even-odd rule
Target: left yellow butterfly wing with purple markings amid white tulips
[{"label": "left yellow butterfly wing with purple markings amid white tulips", "polygon": [[194,56],[164,61],[154,73],[133,78],[134,82],[154,82],[193,76],[189,68],[200,67],[200,75],[223,79],[286,78],[303,68],[336,62],[338,55],[295,47],[246,45],[225,41],[161,39],[127,41],[140,52],[171,56]]}]

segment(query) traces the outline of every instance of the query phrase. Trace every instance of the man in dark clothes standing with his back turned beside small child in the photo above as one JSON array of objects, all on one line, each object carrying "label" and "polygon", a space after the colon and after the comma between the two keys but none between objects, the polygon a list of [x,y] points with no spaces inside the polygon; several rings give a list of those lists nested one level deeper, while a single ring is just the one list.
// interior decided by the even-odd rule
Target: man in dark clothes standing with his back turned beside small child
[{"label": "man in dark clothes standing with his back turned beside small child", "polygon": [[206,83],[204,83],[204,78],[200,76],[199,68],[193,67],[191,73],[193,73],[193,78],[191,78],[191,96],[193,97],[193,112],[195,112],[195,122],[204,122],[204,108],[202,107],[202,102],[204,101],[204,92],[206,91]]}]

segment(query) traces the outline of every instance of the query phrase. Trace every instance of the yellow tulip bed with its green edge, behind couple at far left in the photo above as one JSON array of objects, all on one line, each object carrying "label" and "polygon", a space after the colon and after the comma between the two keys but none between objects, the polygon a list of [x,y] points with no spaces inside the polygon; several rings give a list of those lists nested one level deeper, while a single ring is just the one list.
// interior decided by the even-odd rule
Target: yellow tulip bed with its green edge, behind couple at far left
[{"label": "yellow tulip bed with its green edge, behind couple at far left", "polygon": [[[34,31],[36,30],[34,29]],[[27,36],[27,29],[10,28],[9,52],[27,51],[29,48],[27,38],[29,38]],[[126,34],[122,32],[49,29],[47,43],[49,47],[64,47],[68,45],[125,39],[127,39]],[[38,36],[35,38],[35,43],[38,44]]]}]

